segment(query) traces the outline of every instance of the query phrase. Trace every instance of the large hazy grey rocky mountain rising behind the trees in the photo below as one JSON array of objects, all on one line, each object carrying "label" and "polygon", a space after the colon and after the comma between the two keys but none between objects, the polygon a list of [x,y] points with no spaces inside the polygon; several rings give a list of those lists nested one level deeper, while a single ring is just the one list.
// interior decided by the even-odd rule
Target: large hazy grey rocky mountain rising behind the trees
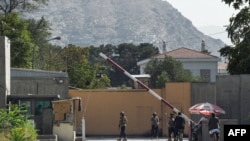
[{"label": "large hazy grey rocky mountain rising behind the trees", "polygon": [[162,0],[50,0],[48,6],[24,15],[51,23],[52,35],[61,44],[82,47],[101,44],[153,43],[167,50],[179,47],[206,49],[218,56],[219,39],[204,35],[177,9]]}]

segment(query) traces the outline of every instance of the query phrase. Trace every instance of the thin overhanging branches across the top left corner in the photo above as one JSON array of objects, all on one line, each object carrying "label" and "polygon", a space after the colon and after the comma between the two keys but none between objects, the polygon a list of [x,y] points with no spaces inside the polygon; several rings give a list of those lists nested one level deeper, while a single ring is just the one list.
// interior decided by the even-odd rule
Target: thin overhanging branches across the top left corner
[{"label": "thin overhanging branches across the top left corner", "polygon": [[49,0],[1,0],[0,14],[29,12],[42,5],[46,5],[48,1]]}]

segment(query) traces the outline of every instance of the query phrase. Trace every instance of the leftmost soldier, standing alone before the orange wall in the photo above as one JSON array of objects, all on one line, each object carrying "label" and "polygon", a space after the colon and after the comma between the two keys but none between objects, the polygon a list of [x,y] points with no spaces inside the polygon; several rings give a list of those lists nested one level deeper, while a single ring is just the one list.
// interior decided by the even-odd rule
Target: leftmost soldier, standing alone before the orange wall
[{"label": "leftmost soldier, standing alone before the orange wall", "polygon": [[120,113],[120,120],[119,120],[119,129],[120,129],[120,137],[119,137],[119,141],[121,141],[122,139],[124,139],[123,141],[126,141],[127,140],[127,136],[126,136],[126,126],[127,126],[127,123],[128,123],[128,119],[127,117],[125,116],[125,112],[122,111]]}]

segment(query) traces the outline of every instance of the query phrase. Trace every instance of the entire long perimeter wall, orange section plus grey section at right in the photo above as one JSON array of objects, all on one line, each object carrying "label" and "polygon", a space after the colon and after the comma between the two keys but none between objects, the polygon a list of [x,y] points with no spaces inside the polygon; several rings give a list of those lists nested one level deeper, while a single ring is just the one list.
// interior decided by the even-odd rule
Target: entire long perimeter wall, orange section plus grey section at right
[{"label": "entire long perimeter wall, orange section plus grey section at right", "polygon": [[[225,115],[219,115],[222,121],[232,119],[238,124],[249,124],[249,80],[250,75],[217,76],[216,83],[166,83],[165,88],[155,91],[195,122],[202,116],[191,115],[188,109],[200,102],[211,102],[226,111]],[[145,90],[70,90],[69,94],[83,99],[87,135],[117,135],[121,110],[129,118],[129,135],[149,135],[153,111],[159,113],[163,136],[167,135],[167,120],[172,109]],[[78,121],[81,124],[80,117]],[[185,134],[188,133],[186,125]]]}]

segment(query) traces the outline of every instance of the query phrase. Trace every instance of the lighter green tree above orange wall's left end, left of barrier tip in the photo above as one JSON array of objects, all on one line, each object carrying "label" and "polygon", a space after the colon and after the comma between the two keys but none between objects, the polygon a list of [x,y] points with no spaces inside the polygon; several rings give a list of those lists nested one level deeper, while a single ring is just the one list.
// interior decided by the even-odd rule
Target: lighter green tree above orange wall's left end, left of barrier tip
[{"label": "lighter green tree above orange wall's left end, left of barrier tip", "polygon": [[110,87],[110,80],[103,71],[105,67],[99,63],[89,63],[89,48],[70,44],[59,54],[66,58],[70,86],[86,89]]}]

